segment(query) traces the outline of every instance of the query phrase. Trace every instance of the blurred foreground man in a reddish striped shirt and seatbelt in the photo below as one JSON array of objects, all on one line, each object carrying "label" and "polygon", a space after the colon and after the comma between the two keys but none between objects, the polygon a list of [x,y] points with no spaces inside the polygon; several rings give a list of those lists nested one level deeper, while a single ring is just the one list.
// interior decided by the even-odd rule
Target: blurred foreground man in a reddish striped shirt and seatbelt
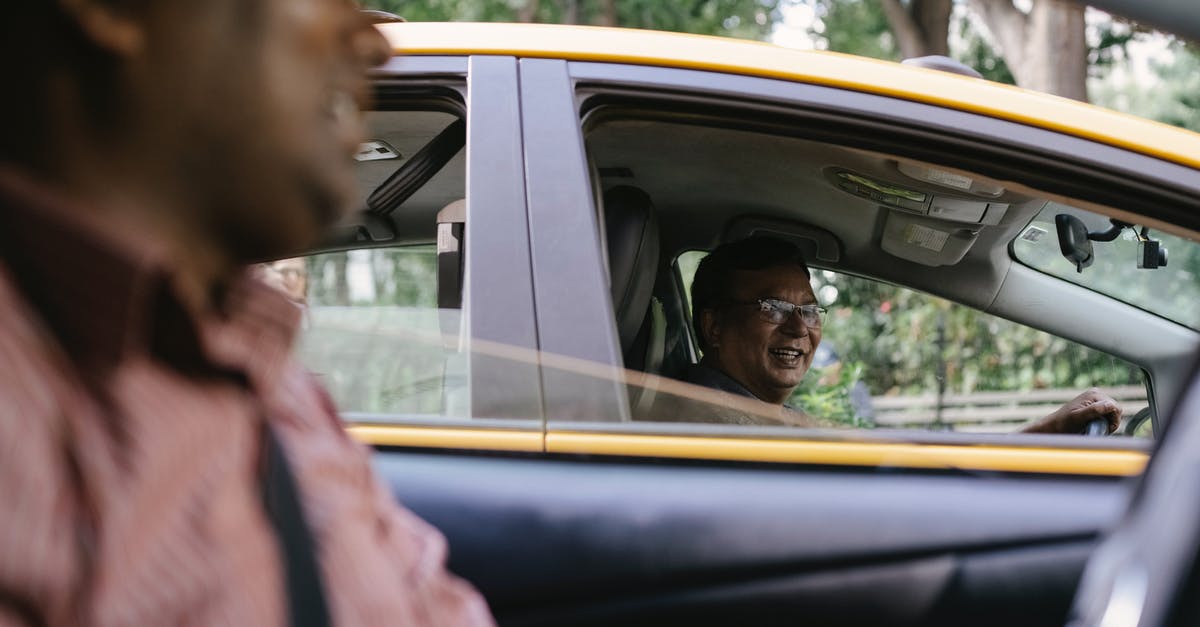
[{"label": "blurred foreground man in a reddish striped shirt and seatbelt", "polygon": [[247,262],[353,192],[347,0],[0,19],[0,625],[487,623],[289,357]]}]

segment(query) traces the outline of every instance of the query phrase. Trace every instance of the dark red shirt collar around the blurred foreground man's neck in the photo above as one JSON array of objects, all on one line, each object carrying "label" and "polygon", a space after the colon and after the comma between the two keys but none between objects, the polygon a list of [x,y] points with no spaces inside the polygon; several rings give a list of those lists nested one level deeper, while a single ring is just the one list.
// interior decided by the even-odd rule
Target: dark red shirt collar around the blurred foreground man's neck
[{"label": "dark red shirt collar around the blurred foreground man's neck", "polygon": [[216,307],[190,303],[151,233],[2,166],[0,259],[85,368],[146,352],[181,368],[206,362],[271,378],[299,328],[295,305],[248,274]]}]

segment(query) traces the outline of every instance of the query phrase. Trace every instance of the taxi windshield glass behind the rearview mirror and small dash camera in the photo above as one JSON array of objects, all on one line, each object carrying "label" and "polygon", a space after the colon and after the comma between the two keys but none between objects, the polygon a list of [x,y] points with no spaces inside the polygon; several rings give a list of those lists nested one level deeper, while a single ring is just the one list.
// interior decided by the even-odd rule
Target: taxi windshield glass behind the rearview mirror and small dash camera
[{"label": "taxi windshield glass behind the rearview mirror and small dash camera", "polygon": [[1146,239],[1168,250],[1164,267],[1139,268],[1141,226],[1126,228],[1112,241],[1092,241],[1094,261],[1082,271],[1063,257],[1058,246],[1055,216],[1069,214],[1082,220],[1092,233],[1109,229],[1106,216],[1049,202],[1040,214],[1013,240],[1016,261],[1110,295],[1170,321],[1200,330],[1200,244],[1168,233],[1150,231]]}]

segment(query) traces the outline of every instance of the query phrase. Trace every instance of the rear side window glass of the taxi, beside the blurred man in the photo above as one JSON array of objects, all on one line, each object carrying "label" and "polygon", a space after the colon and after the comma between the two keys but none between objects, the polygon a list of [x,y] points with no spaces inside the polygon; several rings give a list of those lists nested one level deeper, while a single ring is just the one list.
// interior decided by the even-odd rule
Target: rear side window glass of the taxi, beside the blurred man
[{"label": "rear side window glass of the taxi, beside the blurred man", "polygon": [[[470,417],[460,309],[466,151],[446,133],[458,124],[445,111],[371,112],[355,174],[372,215],[350,222],[355,240],[379,244],[264,268],[305,309],[298,354],[349,422]],[[449,159],[412,163],[438,142]],[[440,262],[439,237],[450,252]],[[296,273],[302,281],[289,283]]]}]

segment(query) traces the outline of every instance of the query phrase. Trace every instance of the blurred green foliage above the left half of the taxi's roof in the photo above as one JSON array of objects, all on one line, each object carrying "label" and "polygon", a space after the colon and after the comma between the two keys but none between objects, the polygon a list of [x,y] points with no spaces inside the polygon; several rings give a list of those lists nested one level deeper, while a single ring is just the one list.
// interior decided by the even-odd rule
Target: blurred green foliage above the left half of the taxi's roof
[{"label": "blurred green foliage above the left half of the taxi's roof", "polygon": [[[412,22],[517,22],[535,6],[533,22],[604,24],[605,0],[365,0]],[[762,40],[779,20],[780,0],[611,0],[617,25]]]}]

